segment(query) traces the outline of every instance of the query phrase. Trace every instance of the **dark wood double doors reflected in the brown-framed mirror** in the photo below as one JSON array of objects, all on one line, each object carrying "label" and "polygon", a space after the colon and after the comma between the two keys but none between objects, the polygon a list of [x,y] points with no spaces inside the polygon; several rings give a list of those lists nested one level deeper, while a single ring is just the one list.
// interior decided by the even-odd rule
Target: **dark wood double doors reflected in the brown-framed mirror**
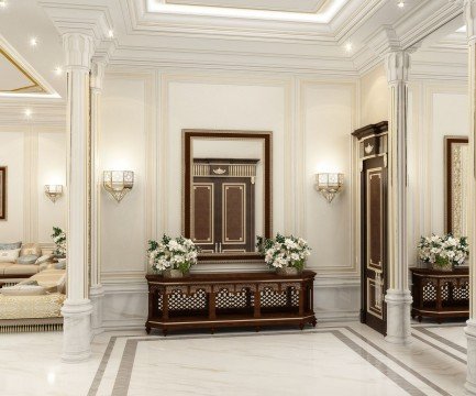
[{"label": "dark wood double doors reflected in the brown-framed mirror", "polygon": [[192,240],[204,253],[253,252],[254,184],[250,177],[193,183]]}]

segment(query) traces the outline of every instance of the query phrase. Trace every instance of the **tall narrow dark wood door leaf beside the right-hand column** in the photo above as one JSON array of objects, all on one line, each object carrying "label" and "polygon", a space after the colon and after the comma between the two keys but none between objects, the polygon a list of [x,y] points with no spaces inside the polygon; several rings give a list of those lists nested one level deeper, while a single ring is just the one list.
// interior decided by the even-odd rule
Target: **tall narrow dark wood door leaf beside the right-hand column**
[{"label": "tall narrow dark wood door leaf beside the right-hand column", "polygon": [[385,156],[362,167],[362,309],[361,321],[386,334],[387,309],[387,167]]}]

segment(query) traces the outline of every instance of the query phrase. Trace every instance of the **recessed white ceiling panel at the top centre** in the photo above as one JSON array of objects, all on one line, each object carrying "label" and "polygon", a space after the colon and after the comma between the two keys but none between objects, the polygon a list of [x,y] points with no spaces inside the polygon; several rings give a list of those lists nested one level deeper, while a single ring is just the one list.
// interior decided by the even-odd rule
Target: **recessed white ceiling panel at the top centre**
[{"label": "recessed white ceiling panel at the top centre", "polygon": [[326,0],[164,0],[168,4],[318,13]]}]

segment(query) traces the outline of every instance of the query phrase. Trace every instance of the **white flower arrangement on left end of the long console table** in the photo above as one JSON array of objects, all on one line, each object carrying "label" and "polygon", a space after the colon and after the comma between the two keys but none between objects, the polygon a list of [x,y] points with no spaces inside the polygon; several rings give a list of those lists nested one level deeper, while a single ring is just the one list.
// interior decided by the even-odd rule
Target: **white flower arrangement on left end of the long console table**
[{"label": "white flower arrangement on left end of the long console table", "polygon": [[188,273],[190,267],[197,264],[198,248],[190,239],[178,237],[171,239],[168,235],[162,238],[160,242],[148,241],[148,261],[155,272],[166,270],[179,270]]}]

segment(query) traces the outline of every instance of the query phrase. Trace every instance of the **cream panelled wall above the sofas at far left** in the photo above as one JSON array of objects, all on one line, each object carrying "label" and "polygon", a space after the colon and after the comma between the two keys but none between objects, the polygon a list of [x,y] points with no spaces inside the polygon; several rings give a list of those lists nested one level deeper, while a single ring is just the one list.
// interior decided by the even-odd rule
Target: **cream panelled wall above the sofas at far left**
[{"label": "cream panelled wall above the sofas at far left", "polygon": [[53,226],[66,228],[66,199],[53,204],[44,194],[45,184],[66,184],[64,130],[1,127],[3,165],[8,166],[8,219],[0,220],[0,241],[51,244]]}]

